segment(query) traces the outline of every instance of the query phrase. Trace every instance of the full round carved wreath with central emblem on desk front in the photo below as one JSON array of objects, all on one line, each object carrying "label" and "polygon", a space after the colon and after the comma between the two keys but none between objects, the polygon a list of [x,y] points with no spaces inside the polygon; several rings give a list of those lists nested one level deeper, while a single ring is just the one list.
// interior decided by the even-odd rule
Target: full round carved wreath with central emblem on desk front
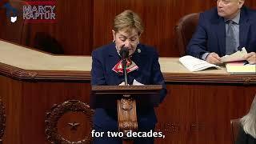
[{"label": "full round carved wreath with central emblem on desk front", "polygon": [[[66,143],[66,144],[82,144],[82,143],[90,143],[92,142],[91,136],[86,136],[84,139],[78,142],[70,142],[69,140],[62,137],[62,135],[58,134],[58,120],[67,112],[82,112],[86,115],[86,118],[89,119],[90,122],[90,131],[93,128],[92,116],[94,111],[90,109],[90,106],[86,105],[84,102],[80,102],[78,100],[70,100],[67,102],[63,102],[58,105],[54,105],[50,112],[46,113],[46,138],[50,143]],[[78,123],[69,123],[70,126],[73,126],[74,129]]]}]

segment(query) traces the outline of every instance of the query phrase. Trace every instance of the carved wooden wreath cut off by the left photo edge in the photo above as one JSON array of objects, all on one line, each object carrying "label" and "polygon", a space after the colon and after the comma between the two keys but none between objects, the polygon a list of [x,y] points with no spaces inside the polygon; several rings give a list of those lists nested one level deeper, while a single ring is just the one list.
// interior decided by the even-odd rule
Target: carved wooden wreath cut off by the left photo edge
[{"label": "carved wooden wreath cut off by the left photo edge", "polygon": [[6,129],[6,113],[5,107],[2,104],[2,99],[0,99],[0,143],[2,143],[2,137]]}]

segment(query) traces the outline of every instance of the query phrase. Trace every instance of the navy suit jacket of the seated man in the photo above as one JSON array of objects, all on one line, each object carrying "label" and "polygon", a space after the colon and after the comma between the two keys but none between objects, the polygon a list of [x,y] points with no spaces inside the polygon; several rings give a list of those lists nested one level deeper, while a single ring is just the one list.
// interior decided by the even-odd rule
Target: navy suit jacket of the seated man
[{"label": "navy suit jacket of the seated man", "polygon": [[[186,53],[201,58],[206,52],[215,52],[220,57],[226,55],[226,26],[224,18],[218,16],[217,8],[200,14],[197,30],[187,46]],[[240,46],[247,52],[256,51],[256,11],[242,7],[239,22]]]}]

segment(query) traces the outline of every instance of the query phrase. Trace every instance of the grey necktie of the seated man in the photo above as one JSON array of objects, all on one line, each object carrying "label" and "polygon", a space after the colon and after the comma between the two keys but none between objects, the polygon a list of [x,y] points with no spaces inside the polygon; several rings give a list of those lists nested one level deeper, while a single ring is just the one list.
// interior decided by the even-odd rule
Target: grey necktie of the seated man
[{"label": "grey necktie of the seated man", "polygon": [[234,24],[232,20],[226,21],[228,24],[227,30],[226,30],[226,54],[233,54],[237,47],[236,47],[236,41],[234,38]]}]

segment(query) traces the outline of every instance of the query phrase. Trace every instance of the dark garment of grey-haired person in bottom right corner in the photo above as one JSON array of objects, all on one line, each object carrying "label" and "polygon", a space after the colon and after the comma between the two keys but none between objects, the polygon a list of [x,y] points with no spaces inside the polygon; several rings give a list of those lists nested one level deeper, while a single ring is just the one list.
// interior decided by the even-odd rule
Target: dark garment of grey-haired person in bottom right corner
[{"label": "dark garment of grey-haired person in bottom right corner", "polygon": [[255,143],[256,143],[256,138],[252,137],[250,134],[246,134],[242,126],[240,126],[240,129],[238,132],[238,139],[235,142],[235,144],[255,144]]}]

